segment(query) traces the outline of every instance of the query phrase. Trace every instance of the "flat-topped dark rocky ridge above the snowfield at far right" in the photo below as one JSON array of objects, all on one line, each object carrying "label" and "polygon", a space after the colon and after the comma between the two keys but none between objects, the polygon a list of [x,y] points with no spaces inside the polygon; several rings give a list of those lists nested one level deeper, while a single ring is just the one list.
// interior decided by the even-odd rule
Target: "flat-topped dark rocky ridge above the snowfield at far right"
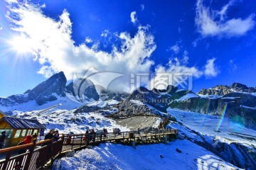
[{"label": "flat-topped dark rocky ridge above the snowfield at far right", "polygon": [[[222,87],[229,89],[225,91]],[[208,89],[206,91],[210,93],[209,96],[199,94],[198,96],[179,98],[172,101],[169,106],[184,111],[223,115],[237,123],[256,129],[256,95],[254,92],[248,92],[252,92],[253,88],[247,88],[245,85],[235,83],[232,86],[218,86],[218,90]],[[226,94],[213,96],[215,93],[211,92],[214,91],[218,91],[219,94],[222,91],[221,94]]]}]

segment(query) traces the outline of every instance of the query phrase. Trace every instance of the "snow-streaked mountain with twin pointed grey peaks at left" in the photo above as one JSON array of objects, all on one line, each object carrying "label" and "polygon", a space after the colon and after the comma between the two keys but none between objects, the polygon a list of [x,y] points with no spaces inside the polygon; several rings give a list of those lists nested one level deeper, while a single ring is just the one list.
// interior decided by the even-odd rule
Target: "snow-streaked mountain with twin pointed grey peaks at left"
[{"label": "snow-streaked mountain with twin pointed grey peaks at left", "polygon": [[33,111],[61,103],[62,107],[79,107],[93,101],[124,100],[128,94],[108,91],[96,86],[90,79],[77,79],[67,84],[63,72],[38,84],[24,94],[0,98],[0,110],[11,115],[12,111]]}]

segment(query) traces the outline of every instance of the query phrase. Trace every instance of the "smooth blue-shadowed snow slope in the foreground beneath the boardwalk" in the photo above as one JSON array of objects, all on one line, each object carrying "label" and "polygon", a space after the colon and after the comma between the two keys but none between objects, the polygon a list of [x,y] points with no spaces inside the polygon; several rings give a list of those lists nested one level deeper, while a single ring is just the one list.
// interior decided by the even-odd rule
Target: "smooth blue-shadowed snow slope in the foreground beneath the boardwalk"
[{"label": "smooth blue-shadowed snow slope in the foreground beneath the boardwalk", "polygon": [[[178,153],[176,149],[181,150]],[[160,155],[163,157],[161,158]],[[215,154],[189,142],[176,140],[168,145],[129,146],[101,144],[64,157],[53,169],[238,169]]]}]

